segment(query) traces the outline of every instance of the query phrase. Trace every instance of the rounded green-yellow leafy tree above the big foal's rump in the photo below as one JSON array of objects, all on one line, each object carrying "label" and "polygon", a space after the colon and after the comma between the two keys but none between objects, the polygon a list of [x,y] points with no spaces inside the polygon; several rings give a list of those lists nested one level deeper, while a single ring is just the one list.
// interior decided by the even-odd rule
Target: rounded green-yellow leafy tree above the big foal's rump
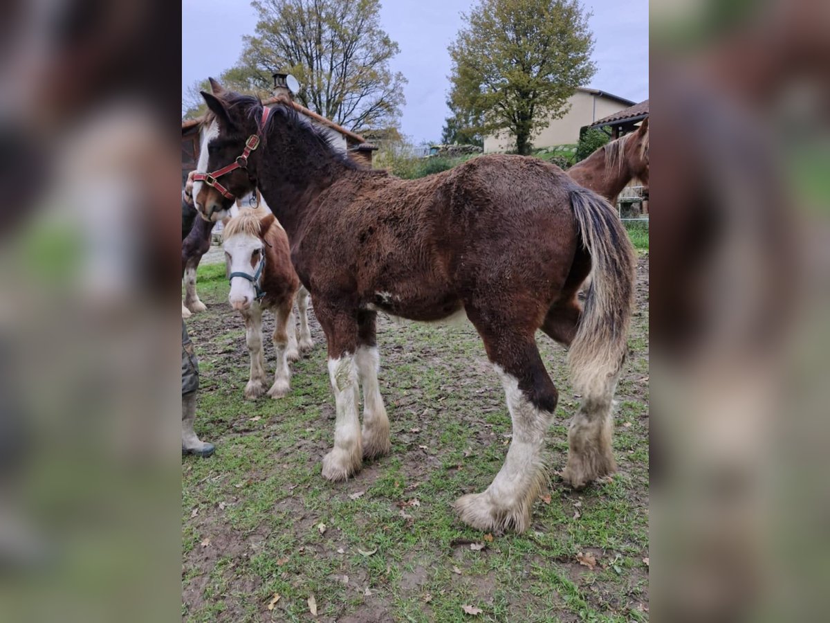
[{"label": "rounded green-yellow leafy tree above the big foal's rump", "polygon": [[578,0],[480,0],[449,47],[451,108],[529,154],[534,133],[596,72],[588,17]]}]

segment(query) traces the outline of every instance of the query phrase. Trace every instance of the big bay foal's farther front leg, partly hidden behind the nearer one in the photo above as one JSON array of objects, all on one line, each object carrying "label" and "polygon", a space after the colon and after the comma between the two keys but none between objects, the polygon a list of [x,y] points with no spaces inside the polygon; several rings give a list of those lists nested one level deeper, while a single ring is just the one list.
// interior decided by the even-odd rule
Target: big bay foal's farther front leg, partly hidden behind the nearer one
[{"label": "big bay foal's farther front leg, partly hidden behind the nearer one", "polygon": [[375,340],[375,312],[359,312],[358,350],[354,357],[358,365],[360,385],[364,390],[363,451],[364,459],[389,454],[389,418],[378,385],[380,357]]}]

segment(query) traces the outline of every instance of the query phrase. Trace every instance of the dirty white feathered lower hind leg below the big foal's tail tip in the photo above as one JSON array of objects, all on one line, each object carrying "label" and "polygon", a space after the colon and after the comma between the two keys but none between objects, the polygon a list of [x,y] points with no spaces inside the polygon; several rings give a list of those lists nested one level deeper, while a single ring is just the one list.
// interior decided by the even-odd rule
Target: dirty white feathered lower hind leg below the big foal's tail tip
[{"label": "dirty white feathered lower hind leg below the big foal's tail tip", "polygon": [[568,464],[562,478],[573,488],[583,488],[617,471],[611,435],[612,393],[602,398],[583,398],[568,429]]}]

